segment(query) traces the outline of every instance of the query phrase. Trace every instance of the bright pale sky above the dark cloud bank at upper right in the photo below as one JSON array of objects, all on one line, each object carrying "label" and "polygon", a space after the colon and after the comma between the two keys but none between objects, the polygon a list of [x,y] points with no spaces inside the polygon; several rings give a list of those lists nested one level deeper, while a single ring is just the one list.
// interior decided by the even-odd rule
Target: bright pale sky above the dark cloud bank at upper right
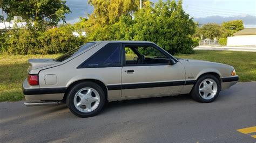
[{"label": "bright pale sky above the dark cloud bank at upper right", "polygon": [[183,0],[183,9],[193,17],[256,16],[256,0]]}]

